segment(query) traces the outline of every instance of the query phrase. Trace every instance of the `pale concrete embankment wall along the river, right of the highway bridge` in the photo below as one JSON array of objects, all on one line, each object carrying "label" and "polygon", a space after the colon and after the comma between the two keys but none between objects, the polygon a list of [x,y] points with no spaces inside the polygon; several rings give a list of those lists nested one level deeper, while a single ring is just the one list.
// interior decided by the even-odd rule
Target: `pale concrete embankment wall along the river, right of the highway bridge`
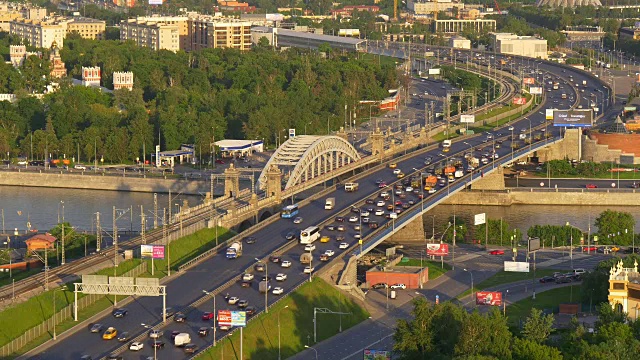
[{"label": "pale concrete embankment wall along the river, right of the highway bridge", "polygon": [[598,205],[638,206],[640,191],[562,191],[558,189],[533,191],[465,191],[450,197],[447,205]]}]

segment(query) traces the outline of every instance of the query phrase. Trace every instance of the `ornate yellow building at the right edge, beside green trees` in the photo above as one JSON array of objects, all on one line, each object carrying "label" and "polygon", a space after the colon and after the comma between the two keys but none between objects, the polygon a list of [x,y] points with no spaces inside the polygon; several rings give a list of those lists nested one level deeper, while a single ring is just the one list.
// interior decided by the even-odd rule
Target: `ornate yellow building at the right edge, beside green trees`
[{"label": "ornate yellow building at the right edge, beside green trees", "polygon": [[638,262],[632,268],[623,268],[622,260],[609,271],[609,304],[626,313],[631,320],[640,317],[640,274]]}]

